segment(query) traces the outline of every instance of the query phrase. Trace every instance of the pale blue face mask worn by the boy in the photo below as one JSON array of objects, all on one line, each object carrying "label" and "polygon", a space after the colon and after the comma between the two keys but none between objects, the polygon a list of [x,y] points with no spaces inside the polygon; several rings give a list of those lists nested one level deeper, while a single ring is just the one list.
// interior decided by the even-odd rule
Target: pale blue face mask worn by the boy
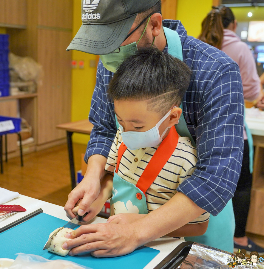
[{"label": "pale blue face mask worn by the boy", "polygon": [[[177,106],[174,106],[173,108],[175,107]],[[172,110],[170,110],[161,120],[159,120],[156,126],[146,132],[123,132],[123,127],[119,125],[124,144],[132,150],[157,146],[162,141],[163,136],[166,134],[167,130],[171,128],[167,127],[163,134],[160,136],[159,127],[161,123],[166,120],[171,111]]]}]

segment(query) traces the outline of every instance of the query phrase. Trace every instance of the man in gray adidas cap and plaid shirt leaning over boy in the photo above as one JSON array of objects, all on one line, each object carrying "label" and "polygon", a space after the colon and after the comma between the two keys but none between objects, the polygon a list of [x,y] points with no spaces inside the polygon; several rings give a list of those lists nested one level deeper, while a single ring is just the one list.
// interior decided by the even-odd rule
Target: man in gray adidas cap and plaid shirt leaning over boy
[{"label": "man in gray adidas cap and plaid shirt leaning over boy", "polygon": [[[180,21],[162,21],[160,0],[84,0],[81,16],[83,24],[67,50],[98,54],[100,61],[89,113],[94,128],[85,155],[87,172],[68,197],[67,215],[73,218],[72,209],[80,202],[78,214],[88,212],[84,220],[95,216],[89,207],[100,192],[100,179],[118,128],[107,87],[118,65],[139,48],[154,45],[192,69],[176,129],[197,147],[198,161],[195,172],[177,188],[177,201],[186,206],[171,209],[174,226],[166,222],[161,210],[154,210],[133,225],[84,225],[71,234],[72,240],[64,247],[74,247],[70,255],[87,251],[94,256],[124,255],[206,210],[211,213],[208,230],[188,240],[233,252],[231,198],[243,152],[243,89],[238,65],[218,49],[188,36]],[[166,203],[160,208],[169,207]]]}]

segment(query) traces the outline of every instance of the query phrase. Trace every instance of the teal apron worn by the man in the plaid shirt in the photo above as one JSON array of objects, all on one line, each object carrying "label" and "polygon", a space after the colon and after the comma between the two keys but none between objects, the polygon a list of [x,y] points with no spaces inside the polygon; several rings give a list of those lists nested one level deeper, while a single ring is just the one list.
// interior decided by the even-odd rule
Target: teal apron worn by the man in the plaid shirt
[{"label": "teal apron worn by the man in the plaid shirt", "polygon": [[[183,60],[182,46],[178,33],[169,28],[163,27],[167,44],[168,52],[172,56]],[[182,103],[180,105],[182,107]],[[116,120],[116,126],[119,128],[119,124]],[[192,144],[196,147],[194,139],[190,134],[186,125],[183,113],[180,116],[179,123],[176,126],[176,130],[179,135],[183,137],[189,137]],[[233,253],[234,250],[234,231],[235,231],[235,218],[232,205],[232,199],[228,201],[223,210],[217,215],[212,216],[210,214],[209,224],[207,231],[202,236],[185,237],[185,240],[194,241],[201,244],[205,244],[211,247],[216,247],[221,250],[226,250]]]}]

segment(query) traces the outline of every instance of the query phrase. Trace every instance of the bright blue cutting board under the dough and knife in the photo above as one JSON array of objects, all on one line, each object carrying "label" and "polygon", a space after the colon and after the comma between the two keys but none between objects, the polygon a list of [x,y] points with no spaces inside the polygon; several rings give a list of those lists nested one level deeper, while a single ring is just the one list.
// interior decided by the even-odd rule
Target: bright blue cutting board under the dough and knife
[{"label": "bright blue cutting board under the dough and knife", "polygon": [[60,218],[41,213],[7,231],[0,233],[0,258],[16,259],[16,253],[35,254],[46,259],[63,259],[93,269],[143,269],[159,250],[140,247],[134,252],[114,258],[95,258],[89,253],[83,256],[61,257],[55,253],[42,250],[50,233],[67,223]]}]

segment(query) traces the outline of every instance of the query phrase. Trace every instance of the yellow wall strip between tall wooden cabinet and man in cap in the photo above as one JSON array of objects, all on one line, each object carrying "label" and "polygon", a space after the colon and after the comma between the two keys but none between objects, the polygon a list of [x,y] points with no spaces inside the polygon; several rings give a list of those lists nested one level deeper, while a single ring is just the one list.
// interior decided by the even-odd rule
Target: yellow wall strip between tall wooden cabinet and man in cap
[{"label": "yellow wall strip between tall wooden cabinet and man in cap", "polygon": [[[73,33],[75,36],[81,27],[81,1],[73,0]],[[95,60],[96,56],[81,51],[72,51],[73,60],[83,60],[84,69],[72,69],[72,121],[88,118],[92,93],[96,81],[96,67],[89,67],[90,60]],[[73,142],[87,144],[88,135],[74,134]]]}]

